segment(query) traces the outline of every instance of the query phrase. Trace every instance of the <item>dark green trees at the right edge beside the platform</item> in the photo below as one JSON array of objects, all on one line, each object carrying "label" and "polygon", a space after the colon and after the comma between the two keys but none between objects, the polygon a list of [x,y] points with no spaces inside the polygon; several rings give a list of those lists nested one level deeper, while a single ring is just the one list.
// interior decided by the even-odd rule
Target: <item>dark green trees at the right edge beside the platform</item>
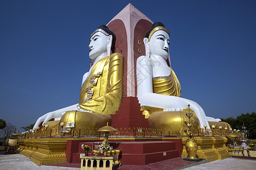
[{"label": "dark green trees at the right edge beside the platform", "polygon": [[237,116],[237,118],[228,117],[221,118],[221,121],[227,122],[232,129],[243,130],[243,125],[245,126],[246,134],[249,135],[249,139],[256,139],[256,113],[246,113]]}]

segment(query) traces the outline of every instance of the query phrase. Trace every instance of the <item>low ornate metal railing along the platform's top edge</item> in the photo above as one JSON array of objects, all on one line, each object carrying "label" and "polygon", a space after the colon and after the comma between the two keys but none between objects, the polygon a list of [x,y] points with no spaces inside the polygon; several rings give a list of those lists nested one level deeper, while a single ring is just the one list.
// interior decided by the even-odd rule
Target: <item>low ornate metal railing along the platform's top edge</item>
[{"label": "low ornate metal railing along the platform's top edge", "polygon": [[[180,131],[167,131],[162,134],[159,129],[151,128],[115,128],[117,131],[110,132],[110,137],[116,138],[159,138],[159,137],[186,137],[187,135],[180,134]],[[20,139],[26,138],[100,138],[104,137],[104,133],[97,131],[98,129],[82,128],[82,129],[43,129],[33,133],[21,135]],[[212,130],[200,128],[197,130],[195,137],[204,136],[225,136],[230,133],[228,130]],[[237,133],[237,132],[236,132]],[[241,134],[241,133],[239,133]],[[241,135],[242,136],[242,135]]]}]

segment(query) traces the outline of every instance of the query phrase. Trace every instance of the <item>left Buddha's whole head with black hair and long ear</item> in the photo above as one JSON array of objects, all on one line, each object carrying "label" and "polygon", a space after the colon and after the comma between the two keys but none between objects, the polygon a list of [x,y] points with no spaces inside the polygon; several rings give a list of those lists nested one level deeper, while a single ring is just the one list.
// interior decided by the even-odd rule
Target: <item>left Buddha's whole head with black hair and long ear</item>
[{"label": "left Buddha's whole head with black hair and long ear", "polygon": [[115,34],[106,25],[100,25],[90,36],[89,57],[96,59],[98,56],[109,56],[114,52]]}]

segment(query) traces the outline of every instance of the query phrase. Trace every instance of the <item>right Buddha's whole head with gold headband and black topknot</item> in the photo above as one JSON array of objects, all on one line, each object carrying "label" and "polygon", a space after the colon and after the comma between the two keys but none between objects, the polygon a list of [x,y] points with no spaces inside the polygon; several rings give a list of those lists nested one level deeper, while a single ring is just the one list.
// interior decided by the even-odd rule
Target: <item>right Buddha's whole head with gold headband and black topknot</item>
[{"label": "right Buddha's whole head with gold headband and black topknot", "polygon": [[155,22],[144,37],[146,56],[161,56],[165,60],[169,56],[170,32],[163,23]]}]

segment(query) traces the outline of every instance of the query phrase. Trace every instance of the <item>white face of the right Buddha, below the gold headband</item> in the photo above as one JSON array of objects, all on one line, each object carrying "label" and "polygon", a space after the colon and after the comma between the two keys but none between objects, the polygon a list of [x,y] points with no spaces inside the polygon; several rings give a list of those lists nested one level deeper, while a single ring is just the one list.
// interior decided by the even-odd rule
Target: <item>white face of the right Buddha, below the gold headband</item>
[{"label": "white face of the right Buddha, below the gold headband", "polygon": [[150,41],[148,42],[150,49],[150,56],[161,56],[168,59],[170,36],[167,32],[159,30],[153,33]]}]

